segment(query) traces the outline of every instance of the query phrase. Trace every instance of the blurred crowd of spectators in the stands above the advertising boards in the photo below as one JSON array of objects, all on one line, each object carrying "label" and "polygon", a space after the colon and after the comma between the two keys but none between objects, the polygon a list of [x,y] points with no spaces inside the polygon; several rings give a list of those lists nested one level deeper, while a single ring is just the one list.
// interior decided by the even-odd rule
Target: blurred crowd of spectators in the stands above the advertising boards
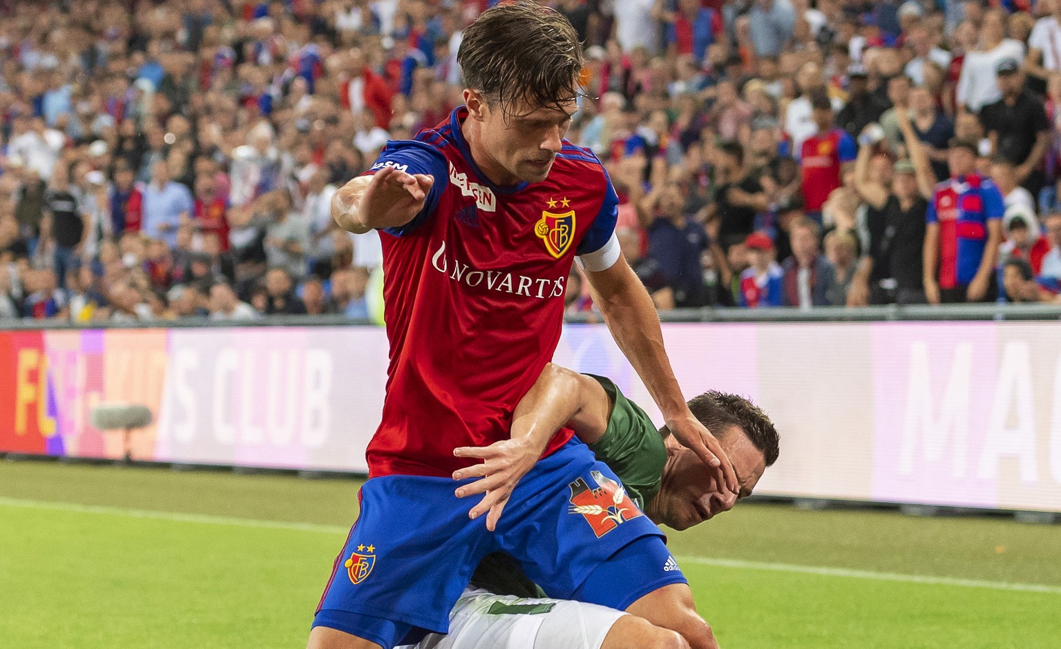
[{"label": "blurred crowd of spectators in the stands above the advertising boards", "polygon": [[[0,318],[371,317],[331,196],[492,3],[0,2]],[[659,309],[1058,299],[1061,0],[543,4]]]}]

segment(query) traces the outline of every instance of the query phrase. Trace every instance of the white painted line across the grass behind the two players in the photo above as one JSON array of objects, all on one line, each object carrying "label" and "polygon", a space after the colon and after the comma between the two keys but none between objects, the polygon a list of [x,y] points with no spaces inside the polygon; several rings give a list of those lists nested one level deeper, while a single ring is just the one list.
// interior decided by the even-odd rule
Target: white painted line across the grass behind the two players
[{"label": "white painted line across the grass behind the two players", "polygon": [[[128,516],[134,519],[153,519],[157,521],[173,521],[176,523],[196,523],[205,525],[231,525],[236,527],[255,527],[260,529],[286,529],[293,531],[324,532],[345,534],[349,528],[340,525],[319,525],[316,523],[294,523],[284,521],[265,521],[261,519],[241,519],[238,516],[220,516],[213,514],[181,513],[175,511],[156,511],[151,509],[126,509],[124,507],[107,507],[101,505],[81,505],[77,503],[54,503],[48,501],[30,501],[0,496],[0,507],[19,507],[22,509],[48,509],[73,513],[105,514]],[[762,561],[742,561],[740,559],[711,559],[708,557],[676,557],[679,563],[712,565],[728,568],[752,571],[769,571],[775,573],[798,573],[803,575],[819,575],[822,577],[845,577],[850,579],[874,579],[877,581],[898,581],[904,583],[926,583],[932,585],[955,585],[974,589],[991,589],[995,591],[1017,591],[1023,593],[1045,593],[1061,595],[1061,586],[1041,583],[1016,583],[1007,581],[986,581],[979,579],[958,579],[954,577],[929,577],[924,575],[903,575],[900,573],[876,573],[872,571],[855,571],[851,568],[828,567],[816,565],[799,565],[795,563],[767,563]]]}]

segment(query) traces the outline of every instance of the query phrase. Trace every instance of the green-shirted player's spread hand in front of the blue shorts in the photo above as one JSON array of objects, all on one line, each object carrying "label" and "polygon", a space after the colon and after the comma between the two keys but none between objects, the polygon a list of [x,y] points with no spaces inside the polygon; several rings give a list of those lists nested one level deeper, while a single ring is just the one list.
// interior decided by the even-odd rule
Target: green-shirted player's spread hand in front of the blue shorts
[{"label": "green-shirted player's spread hand in front of the blue shorts", "polygon": [[529,439],[503,439],[489,446],[462,446],[453,451],[456,457],[481,458],[483,463],[473,464],[453,472],[453,479],[482,478],[474,483],[462,485],[456,490],[456,496],[463,498],[476,493],[485,493],[479,505],[472,507],[468,515],[477,519],[484,513],[486,528],[493,531],[498,527],[501,512],[504,511],[508,498],[512,495],[516,485],[530,471],[544,449],[539,449]]}]

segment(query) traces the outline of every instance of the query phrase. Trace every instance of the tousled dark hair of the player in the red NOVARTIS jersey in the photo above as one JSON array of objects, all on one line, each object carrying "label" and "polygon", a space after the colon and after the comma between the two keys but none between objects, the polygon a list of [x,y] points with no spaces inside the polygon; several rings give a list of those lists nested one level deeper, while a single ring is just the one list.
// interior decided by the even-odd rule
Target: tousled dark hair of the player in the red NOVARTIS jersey
[{"label": "tousled dark hair of the player in the red NOVARTIS jersey", "polygon": [[505,113],[520,100],[534,110],[561,108],[579,95],[578,33],[559,12],[527,0],[483,12],[465,30],[457,63],[465,85]]}]

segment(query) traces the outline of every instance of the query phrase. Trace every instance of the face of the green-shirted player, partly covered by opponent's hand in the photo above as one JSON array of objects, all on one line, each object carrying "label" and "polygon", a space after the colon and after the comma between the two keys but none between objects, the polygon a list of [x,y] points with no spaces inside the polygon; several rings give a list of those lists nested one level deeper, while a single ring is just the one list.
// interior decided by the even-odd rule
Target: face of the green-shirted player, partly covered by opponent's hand
[{"label": "face of the green-shirted player, partly covered by opponent's hand", "polygon": [[737,499],[751,495],[766,470],[763,452],[737,425],[718,436],[718,441],[733,462],[740,492],[733,493],[719,485],[695,453],[681,446],[673,436],[667,437],[671,457],[663,472],[660,493],[650,504],[656,522],[679,531],[689,529],[729,511]]}]

